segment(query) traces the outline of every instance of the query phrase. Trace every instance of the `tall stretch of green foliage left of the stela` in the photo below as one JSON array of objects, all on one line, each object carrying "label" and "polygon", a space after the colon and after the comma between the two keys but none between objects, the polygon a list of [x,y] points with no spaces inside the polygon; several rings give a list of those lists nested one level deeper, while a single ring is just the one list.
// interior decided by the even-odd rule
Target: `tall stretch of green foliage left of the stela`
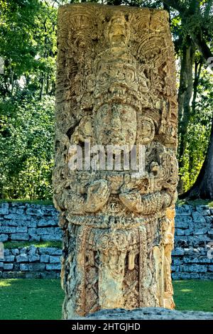
[{"label": "tall stretch of green foliage left of the stela", "polygon": [[0,197],[52,198],[57,8],[0,4]]}]

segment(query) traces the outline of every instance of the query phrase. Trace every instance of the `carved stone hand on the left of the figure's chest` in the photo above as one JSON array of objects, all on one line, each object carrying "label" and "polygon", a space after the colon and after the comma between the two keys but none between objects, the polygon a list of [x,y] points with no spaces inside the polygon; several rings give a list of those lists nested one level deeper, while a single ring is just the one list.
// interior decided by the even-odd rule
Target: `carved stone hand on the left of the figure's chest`
[{"label": "carved stone hand on the left of the figure's chest", "polygon": [[110,190],[106,180],[97,180],[89,185],[87,200],[84,206],[86,212],[97,212],[109,199]]}]

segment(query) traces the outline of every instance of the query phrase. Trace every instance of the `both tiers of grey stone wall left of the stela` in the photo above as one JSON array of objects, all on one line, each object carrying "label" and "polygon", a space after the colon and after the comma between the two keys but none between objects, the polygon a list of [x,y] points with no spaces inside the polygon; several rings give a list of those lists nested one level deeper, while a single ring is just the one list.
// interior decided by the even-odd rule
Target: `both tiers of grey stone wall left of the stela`
[{"label": "both tiers of grey stone wall left of the stela", "polygon": [[[53,205],[1,203],[0,242],[61,241],[58,212]],[[4,249],[0,258],[0,277],[57,278],[60,255],[55,247],[17,247]]]}]

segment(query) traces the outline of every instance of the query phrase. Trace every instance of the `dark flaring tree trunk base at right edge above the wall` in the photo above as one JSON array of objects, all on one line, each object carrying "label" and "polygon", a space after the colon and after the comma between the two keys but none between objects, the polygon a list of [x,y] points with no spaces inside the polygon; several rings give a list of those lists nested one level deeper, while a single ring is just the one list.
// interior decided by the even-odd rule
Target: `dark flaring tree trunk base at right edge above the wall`
[{"label": "dark flaring tree trunk base at right edge above the wall", "polygon": [[213,199],[213,117],[212,131],[207,149],[207,155],[200,170],[197,180],[187,193],[180,195],[180,198],[187,199]]}]

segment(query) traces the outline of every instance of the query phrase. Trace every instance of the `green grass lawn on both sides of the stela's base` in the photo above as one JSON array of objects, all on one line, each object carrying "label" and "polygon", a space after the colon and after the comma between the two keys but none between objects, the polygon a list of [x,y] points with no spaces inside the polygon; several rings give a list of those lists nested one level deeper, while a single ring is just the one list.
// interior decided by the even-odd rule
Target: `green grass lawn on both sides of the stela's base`
[{"label": "green grass lawn on both sides of the stela's base", "polygon": [[[174,281],[177,310],[212,311],[213,281]],[[60,319],[59,279],[1,279],[0,320]]]}]

